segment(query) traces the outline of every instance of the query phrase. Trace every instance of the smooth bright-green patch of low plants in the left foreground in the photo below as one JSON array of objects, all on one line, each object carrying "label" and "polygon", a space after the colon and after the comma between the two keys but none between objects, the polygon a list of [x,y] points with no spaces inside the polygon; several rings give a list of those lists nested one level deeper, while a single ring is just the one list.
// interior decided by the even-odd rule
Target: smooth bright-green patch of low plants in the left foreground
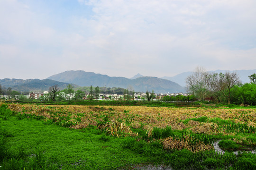
[{"label": "smooth bright-green patch of low plants in the left foreground", "polygon": [[102,135],[43,123],[16,117],[2,119],[1,128],[9,134],[5,138],[7,155],[26,158],[40,153],[45,161],[57,163],[62,169],[111,170],[148,160],[146,156],[123,149],[121,138],[108,136],[104,141]]}]

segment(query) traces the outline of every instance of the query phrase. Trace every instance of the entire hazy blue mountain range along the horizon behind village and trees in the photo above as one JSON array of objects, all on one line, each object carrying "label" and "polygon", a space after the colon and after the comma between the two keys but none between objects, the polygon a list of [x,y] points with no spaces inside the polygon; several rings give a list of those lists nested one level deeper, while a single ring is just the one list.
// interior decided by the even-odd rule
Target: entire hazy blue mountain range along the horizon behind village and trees
[{"label": "entire hazy blue mountain range along the horizon behind village and trees", "polygon": [[[225,73],[227,70],[209,71],[215,73]],[[230,71],[232,72],[232,71]],[[249,83],[249,75],[256,73],[254,70],[237,70],[242,83]],[[52,85],[58,85],[60,90],[66,88],[68,84],[72,84],[74,88],[79,86],[99,86],[99,87],[121,87],[128,88],[128,90],[135,90],[136,92],[151,92],[155,93],[186,93],[185,79],[193,72],[183,72],[176,76],[164,76],[161,78],[152,76],[142,76],[137,74],[131,78],[107,76],[102,74],[95,74],[93,72],[85,72],[82,70],[65,71],[47,79],[0,79],[0,85],[7,89],[11,87],[12,90],[31,92],[31,91],[47,91]]]}]

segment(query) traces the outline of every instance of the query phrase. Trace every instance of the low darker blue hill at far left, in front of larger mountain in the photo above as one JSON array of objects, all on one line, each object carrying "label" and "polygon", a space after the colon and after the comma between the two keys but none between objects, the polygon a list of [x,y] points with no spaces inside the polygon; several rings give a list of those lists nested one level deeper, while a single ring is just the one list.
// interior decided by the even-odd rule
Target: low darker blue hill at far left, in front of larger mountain
[{"label": "low darker blue hill at far left, in front of larger mountain", "polygon": [[[23,91],[23,92],[30,92],[30,91],[47,91],[49,90],[49,87],[53,85],[58,85],[58,87],[61,89],[66,88],[68,83],[58,82],[55,80],[50,79],[0,79],[0,85],[4,86],[6,89],[8,87],[11,87],[12,90],[16,91]],[[78,85],[73,85],[75,88],[79,87]]]}]

